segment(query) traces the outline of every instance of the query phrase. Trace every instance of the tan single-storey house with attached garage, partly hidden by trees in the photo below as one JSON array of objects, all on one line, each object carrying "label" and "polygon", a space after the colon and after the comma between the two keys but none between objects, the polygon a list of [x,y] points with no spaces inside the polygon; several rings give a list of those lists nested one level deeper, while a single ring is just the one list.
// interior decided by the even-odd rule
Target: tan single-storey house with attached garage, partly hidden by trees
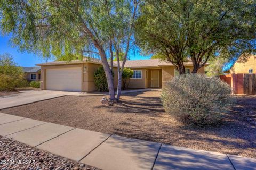
[{"label": "tan single-storey house with attached garage, partly hidden by trees", "polygon": [[[193,64],[185,62],[186,73],[191,73]],[[84,58],[83,61],[54,61],[37,64],[41,66],[41,89],[62,91],[95,91],[94,72],[102,66],[100,60]],[[207,66],[208,64],[206,64]],[[129,88],[161,88],[179,72],[171,63],[158,59],[128,60],[125,67],[133,70]],[[198,70],[204,74],[204,67]],[[114,62],[114,86],[117,88],[117,66]]]}]

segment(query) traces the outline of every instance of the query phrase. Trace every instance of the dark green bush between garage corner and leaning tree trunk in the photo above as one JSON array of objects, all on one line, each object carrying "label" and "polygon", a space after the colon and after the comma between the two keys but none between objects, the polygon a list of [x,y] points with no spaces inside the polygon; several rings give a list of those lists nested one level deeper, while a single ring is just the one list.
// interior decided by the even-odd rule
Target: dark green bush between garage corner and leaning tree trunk
[{"label": "dark green bush between garage corner and leaning tree trunk", "polygon": [[108,91],[108,82],[103,67],[99,67],[95,71],[94,83],[98,91]]}]

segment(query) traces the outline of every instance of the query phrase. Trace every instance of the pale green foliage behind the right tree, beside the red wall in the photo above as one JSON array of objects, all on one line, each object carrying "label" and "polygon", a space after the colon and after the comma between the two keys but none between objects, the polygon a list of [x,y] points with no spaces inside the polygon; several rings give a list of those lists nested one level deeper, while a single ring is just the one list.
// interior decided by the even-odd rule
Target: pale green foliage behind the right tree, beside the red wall
[{"label": "pale green foliage behind the right tree, beside the red wall", "polygon": [[210,65],[205,67],[205,72],[206,75],[211,77],[211,76],[216,76],[216,75],[223,75],[223,68],[228,62],[228,58],[223,58],[223,57],[216,57],[212,60],[209,61]]}]

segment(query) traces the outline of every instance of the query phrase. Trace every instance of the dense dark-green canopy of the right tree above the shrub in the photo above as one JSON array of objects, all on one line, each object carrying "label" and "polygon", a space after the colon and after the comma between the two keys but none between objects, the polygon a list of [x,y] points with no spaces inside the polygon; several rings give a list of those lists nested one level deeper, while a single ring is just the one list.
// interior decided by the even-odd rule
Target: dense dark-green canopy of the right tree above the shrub
[{"label": "dense dark-green canopy of the right tree above the shrub", "polygon": [[244,0],[148,0],[135,27],[137,44],[176,65],[190,57],[195,71],[216,55],[253,53],[255,6]]}]

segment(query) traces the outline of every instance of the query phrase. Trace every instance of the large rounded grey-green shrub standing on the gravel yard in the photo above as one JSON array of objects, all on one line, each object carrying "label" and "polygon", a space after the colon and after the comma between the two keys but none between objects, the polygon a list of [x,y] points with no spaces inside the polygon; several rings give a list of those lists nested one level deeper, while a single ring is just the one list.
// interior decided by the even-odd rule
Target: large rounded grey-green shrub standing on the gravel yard
[{"label": "large rounded grey-green shrub standing on the gravel yard", "polygon": [[187,125],[217,125],[231,103],[231,89],[219,78],[189,74],[175,77],[162,90],[167,113]]}]

